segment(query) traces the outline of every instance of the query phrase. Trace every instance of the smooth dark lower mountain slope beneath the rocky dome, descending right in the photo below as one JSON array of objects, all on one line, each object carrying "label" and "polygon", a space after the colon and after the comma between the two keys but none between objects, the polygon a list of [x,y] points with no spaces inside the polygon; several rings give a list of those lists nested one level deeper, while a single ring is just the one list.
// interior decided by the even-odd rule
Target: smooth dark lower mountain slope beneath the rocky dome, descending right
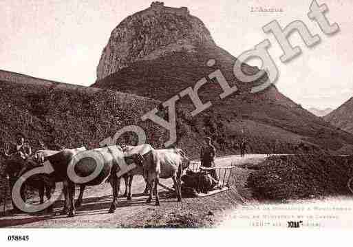
[{"label": "smooth dark lower mountain slope beneath the rocky dome, descending right", "polygon": [[[208,67],[206,63],[211,58],[216,63]],[[234,151],[235,142],[243,136],[248,138],[251,151],[256,153],[292,153],[300,142],[334,153],[351,150],[353,136],[350,133],[310,114],[278,92],[275,86],[250,94],[250,88],[263,83],[266,76],[254,83],[242,83],[233,74],[235,61],[236,58],[222,48],[204,44],[194,47],[193,52],[184,50],[132,63],[92,86],[163,101],[221,69],[228,83],[237,85],[238,92],[221,100],[220,85],[215,80],[208,80],[199,95],[203,103],[211,100],[209,109],[191,117],[188,114],[194,109],[191,100],[184,97],[178,103],[178,108],[186,112],[180,117],[201,136],[212,136],[221,150]],[[257,68],[244,65],[244,71],[254,74]]]}]

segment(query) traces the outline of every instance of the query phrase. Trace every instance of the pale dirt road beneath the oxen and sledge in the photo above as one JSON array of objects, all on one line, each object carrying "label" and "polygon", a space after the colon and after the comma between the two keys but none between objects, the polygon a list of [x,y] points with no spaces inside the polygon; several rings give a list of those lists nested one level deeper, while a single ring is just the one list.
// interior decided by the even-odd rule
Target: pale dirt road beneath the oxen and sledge
[{"label": "pale dirt road beneath the oxen and sledge", "polygon": [[[266,155],[231,155],[217,159],[217,166],[256,163],[264,160]],[[238,176],[239,175],[239,176]],[[244,184],[246,172],[237,169],[235,178],[239,184]],[[243,178],[244,177],[244,178]],[[241,180],[241,181],[240,181]],[[172,186],[172,180],[161,180],[163,184]],[[237,181],[235,182],[237,183]],[[146,204],[147,195],[141,194],[145,189],[145,181],[141,176],[133,180],[131,201],[119,197],[115,213],[108,213],[111,204],[111,188],[109,183],[88,187],[85,191],[83,205],[76,208],[76,217],[60,215],[63,201],[54,204],[54,213],[17,214],[0,218],[0,227],[17,228],[116,228],[116,227],[207,227],[213,225],[213,217],[218,211],[242,204],[238,190],[233,188],[226,193],[220,193],[204,198],[183,198],[178,203],[173,193],[160,187],[161,206],[154,206],[154,200]],[[120,191],[125,190],[124,182]],[[61,193],[56,190],[55,193]],[[222,194],[222,195],[221,195]],[[76,191],[76,197],[78,191]],[[10,209],[10,206],[8,207]]]}]

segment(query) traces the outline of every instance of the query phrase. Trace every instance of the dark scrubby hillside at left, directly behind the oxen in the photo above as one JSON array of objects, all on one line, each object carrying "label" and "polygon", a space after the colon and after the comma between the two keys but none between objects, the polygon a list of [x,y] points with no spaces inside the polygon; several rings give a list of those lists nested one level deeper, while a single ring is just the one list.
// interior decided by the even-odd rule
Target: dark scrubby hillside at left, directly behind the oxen
[{"label": "dark scrubby hillside at left, directly behind the oxen", "polygon": [[[43,140],[49,148],[92,148],[125,125],[138,123],[149,130],[153,126],[140,121],[140,116],[159,104],[139,96],[65,84],[45,87],[2,82],[0,90],[0,143],[14,140],[19,131],[34,147]],[[151,131],[147,135],[154,141]]]}]

